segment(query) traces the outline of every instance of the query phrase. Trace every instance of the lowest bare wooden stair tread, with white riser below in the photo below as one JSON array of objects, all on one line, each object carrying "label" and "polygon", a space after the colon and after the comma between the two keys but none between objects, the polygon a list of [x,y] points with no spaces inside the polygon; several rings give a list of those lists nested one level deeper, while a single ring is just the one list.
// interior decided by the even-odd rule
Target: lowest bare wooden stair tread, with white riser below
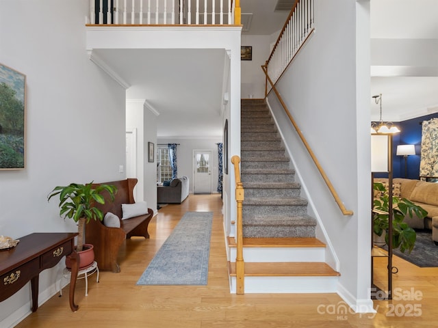
[{"label": "lowest bare wooden stair tread, with white riser below", "polygon": [[[229,272],[235,277],[235,263],[229,262]],[[324,262],[246,262],[246,277],[337,277],[340,273]]]}]

